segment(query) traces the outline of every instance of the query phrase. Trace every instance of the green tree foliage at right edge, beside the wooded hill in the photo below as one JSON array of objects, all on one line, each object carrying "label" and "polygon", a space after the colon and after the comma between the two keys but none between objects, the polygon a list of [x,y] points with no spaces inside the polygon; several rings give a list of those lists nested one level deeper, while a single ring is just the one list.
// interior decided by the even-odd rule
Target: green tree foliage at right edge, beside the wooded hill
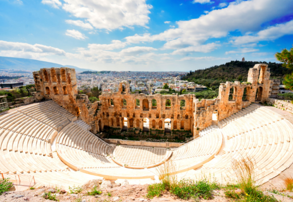
[{"label": "green tree foliage at right edge, beside the wooded hill", "polygon": [[[290,51],[285,48],[281,53],[277,52],[275,57],[278,61],[283,63],[283,67],[293,70],[293,47],[290,48]],[[286,89],[293,90],[293,73],[287,74],[283,83]]]}]

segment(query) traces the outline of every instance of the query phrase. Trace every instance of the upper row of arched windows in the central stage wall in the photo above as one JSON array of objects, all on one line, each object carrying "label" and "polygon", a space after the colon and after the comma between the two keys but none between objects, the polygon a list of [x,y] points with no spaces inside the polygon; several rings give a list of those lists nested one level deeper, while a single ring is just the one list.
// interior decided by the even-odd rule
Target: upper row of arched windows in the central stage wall
[{"label": "upper row of arched windows in the central stage wall", "polygon": [[[186,103],[185,99],[180,100],[180,109],[185,109],[185,103]],[[121,100],[121,105],[122,105],[122,108],[126,108],[126,106],[127,106],[126,99]],[[157,100],[152,99],[152,104],[151,105],[152,105],[152,109],[157,109]],[[113,99],[109,99],[109,106],[114,107]],[[170,99],[166,100],[165,107],[166,107],[166,109],[171,109],[171,100]],[[135,99],[135,108],[140,108],[140,100],[139,99]],[[143,99],[142,100],[142,109],[143,110],[149,110],[150,109],[148,99]]]}]

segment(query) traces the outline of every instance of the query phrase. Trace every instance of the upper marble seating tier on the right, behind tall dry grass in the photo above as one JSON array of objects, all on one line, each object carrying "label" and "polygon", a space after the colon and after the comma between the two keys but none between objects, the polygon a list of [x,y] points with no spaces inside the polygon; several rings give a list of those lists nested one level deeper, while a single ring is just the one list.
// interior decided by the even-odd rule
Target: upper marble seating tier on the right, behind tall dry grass
[{"label": "upper marble seating tier on the right, behind tall dry grass", "polygon": [[[262,117],[257,116],[260,113],[264,113]],[[240,124],[237,120],[240,119],[242,124],[237,128]],[[239,128],[248,130],[233,133]],[[212,176],[223,183],[228,182],[236,179],[231,161],[250,157],[255,163],[257,180],[265,183],[293,163],[293,125],[266,107],[259,107],[231,121],[222,132],[227,135],[223,155],[215,157],[201,169],[182,173],[181,176],[192,179]]]}]

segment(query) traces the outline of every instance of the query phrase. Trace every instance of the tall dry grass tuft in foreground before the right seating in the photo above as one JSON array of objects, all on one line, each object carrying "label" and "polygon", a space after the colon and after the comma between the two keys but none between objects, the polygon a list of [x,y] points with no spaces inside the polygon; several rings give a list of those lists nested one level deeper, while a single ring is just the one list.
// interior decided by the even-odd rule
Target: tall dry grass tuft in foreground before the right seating
[{"label": "tall dry grass tuft in foreground before the right seating", "polygon": [[253,193],[257,189],[255,162],[249,158],[232,160],[232,169],[237,177],[239,187],[243,193]]}]

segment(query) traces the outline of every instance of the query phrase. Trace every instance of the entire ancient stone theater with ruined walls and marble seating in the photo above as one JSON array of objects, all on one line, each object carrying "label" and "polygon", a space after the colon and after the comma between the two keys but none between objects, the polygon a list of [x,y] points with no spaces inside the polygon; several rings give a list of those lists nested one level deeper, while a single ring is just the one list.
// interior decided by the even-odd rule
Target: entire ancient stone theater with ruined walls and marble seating
[{"label": "entire ancient stone theater with ruined walls and marble seating", "polygon": [[[279,83],[269,79],[268,65],[248,74],[247,82],[221,83],[215,99],[133,94],[122,81],[118,92],[90,103],[77,92],[74,69],[40,69],[33,72],[32,104],[0,116],[0,171],[64,187],[95,178],[151,183],[172,162],[178,179],[213,176],[223,183],[235,179],[232,160],[250,157],[258,180],[267,182],[293,163],[293,125],[263,105],[280,107],[273,103]],[[182,142],[111,139],[105,130]]]}]

